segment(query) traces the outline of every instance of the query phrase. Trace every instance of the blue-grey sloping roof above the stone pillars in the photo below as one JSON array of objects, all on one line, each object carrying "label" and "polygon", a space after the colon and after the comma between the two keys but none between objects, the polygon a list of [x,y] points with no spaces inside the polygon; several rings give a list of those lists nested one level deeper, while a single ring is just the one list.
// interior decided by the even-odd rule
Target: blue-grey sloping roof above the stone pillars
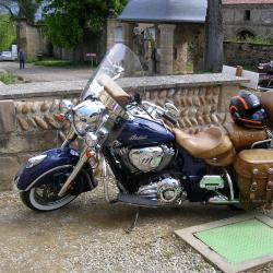
[{"label": "blue-grey sloping roof above the stone pillars", "polygon": [[207,0],[130,0],[119,19],[145,23],[204,23]]}]

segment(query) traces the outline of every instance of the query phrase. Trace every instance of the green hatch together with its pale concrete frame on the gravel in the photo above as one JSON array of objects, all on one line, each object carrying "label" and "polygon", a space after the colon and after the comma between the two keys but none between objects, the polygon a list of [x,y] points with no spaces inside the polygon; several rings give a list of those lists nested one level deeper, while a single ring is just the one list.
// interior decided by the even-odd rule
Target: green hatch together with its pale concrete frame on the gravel
[{"label": "green hatch together with its pale concrete frame on the gravel", "polygon": [[273,219],[247,214],[175,232],[224,272],[273,261]]}]

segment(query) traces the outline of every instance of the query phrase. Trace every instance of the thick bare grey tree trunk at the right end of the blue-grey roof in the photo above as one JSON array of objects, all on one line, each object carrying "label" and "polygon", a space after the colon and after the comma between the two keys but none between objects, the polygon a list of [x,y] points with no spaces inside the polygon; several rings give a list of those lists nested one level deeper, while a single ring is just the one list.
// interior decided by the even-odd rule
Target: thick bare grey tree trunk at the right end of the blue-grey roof
[{"label": "thick bare grey tree trunk at the right end of the blue-grey roof", "polygon": [[222,0],[207,0],[205,24],[205,58],[204,69],[213,72],[222,70],[223,66],[223,14]]}]

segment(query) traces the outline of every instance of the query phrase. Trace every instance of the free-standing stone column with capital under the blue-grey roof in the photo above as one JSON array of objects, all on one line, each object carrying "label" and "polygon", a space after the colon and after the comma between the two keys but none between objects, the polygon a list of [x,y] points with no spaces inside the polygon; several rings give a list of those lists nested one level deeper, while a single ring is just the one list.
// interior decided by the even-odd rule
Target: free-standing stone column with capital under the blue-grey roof
[{"label": "free-standing stone column with capital under the blue-grey roof", "polygon": [[174,31],[176,25],[158,25],[161,31],[161,74],[174,71]]}]

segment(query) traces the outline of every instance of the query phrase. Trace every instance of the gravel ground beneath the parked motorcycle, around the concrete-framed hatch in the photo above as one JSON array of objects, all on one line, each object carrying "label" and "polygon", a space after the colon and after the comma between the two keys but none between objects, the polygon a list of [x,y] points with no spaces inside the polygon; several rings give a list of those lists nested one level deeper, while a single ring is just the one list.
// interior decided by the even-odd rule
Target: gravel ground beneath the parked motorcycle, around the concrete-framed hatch
[{"label": "gravel ground beneath the parked motorcycle, around the concrete-framed hatch", "polygon": [[[134,212],[107,204],[99,188],[51,213],[32,212],[16,193],[2,192],[0,272],[218,272],[173,232],[241,213],[200,204],[142,209],[127,234]],[[273,272],[273,264],[259,272]]]}]

